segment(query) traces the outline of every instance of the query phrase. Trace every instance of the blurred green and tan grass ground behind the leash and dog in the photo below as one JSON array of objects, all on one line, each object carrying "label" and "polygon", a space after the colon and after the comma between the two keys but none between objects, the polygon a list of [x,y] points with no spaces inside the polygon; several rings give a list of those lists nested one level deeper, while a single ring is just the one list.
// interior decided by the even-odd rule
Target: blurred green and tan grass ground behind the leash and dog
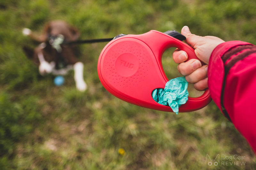
[{"label": "blurred green and tan grass ground behind the leash and dog", "polygon": [[[71,71],[64,86],[41,77],[22,51],[35,47],[22,28],[40,33],[62,19],[81,39],[155,29],[256,43],[256,2],[239,0],[0,1],[1,169],[255,169],[246,140],[211,102],[191,113],[150,110],[108,93],[97,75],[106,43],[80,45],[89,89],[77,92]],[[168,78],[179,77],[173,49],[163,56]],[[152,80],[153,81],[153,80]],[[197,93],[190,85],[190,96]],[[121,149],[121,150],[120,150]],[[208,166],[206,154],[245,156],[244,166]]]}]

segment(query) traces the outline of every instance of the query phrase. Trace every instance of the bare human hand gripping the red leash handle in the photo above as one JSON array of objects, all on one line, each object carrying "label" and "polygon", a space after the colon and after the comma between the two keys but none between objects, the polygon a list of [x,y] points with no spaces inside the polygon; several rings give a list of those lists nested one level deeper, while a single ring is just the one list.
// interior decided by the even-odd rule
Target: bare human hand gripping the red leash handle
[{"label": "bare human hand gripping the red leash handle", "polygon": [[188,26],[184,26],[181,29],[181,34],[186,37],[185,42],[195,49],[196,56],[206,65],[202,66],[201,62],[197,59],[184,62],[188,59],[188,54],[179,49],[173,52],[173,60],[175,63],[179,63],[178,71],[185,76],[188,83],[193,83],[196,90],[202,91],[208,88],[207,69],[212,51],[225,41],[214,36],[201,37],[191,34]]}]

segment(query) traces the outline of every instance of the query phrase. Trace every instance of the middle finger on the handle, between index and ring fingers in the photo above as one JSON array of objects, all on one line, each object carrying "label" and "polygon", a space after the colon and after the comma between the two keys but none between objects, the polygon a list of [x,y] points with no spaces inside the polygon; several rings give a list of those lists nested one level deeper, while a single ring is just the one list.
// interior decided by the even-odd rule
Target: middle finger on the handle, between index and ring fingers
[{"label": "middle finger on the handle, between index and ring fingers", "polygon": [[178,70],[180,74],[187,76],[201,66],[202,64],[199,60],[191,59],[191,60],[188,60],[187,62],[180,63],[178,65]]}]

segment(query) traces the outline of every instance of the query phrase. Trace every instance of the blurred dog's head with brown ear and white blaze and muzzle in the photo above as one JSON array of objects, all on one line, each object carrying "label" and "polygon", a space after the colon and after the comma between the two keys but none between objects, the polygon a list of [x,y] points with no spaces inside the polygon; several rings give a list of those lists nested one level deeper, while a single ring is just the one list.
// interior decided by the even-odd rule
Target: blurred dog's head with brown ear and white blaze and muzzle
[{"label": "blurred dog's head with brown ear and white blaze and muzzle", "polygon": [[52,48],[52,45],[42,43],[34,50],[28,47],[23,47],[23,50],[27,57],[39,66],[41,75],[52,73],[58,58],[57,51]]}]

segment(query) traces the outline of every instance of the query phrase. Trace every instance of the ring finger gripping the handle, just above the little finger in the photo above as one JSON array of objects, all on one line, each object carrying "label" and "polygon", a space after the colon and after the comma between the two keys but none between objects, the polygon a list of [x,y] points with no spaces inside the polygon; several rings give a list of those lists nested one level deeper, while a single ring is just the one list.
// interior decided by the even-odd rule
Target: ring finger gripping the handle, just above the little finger
[{"label": "ring finger gripping the handle, just above the little finger", "polygon": [[191,74],[187,75],[185,78],[188,83],[197,83],[200,80],[203,80],[204,78],[207,78],[207,67],[208,65],[204,65],[202,67],[199,67],[195,71],[193,71]]}]

